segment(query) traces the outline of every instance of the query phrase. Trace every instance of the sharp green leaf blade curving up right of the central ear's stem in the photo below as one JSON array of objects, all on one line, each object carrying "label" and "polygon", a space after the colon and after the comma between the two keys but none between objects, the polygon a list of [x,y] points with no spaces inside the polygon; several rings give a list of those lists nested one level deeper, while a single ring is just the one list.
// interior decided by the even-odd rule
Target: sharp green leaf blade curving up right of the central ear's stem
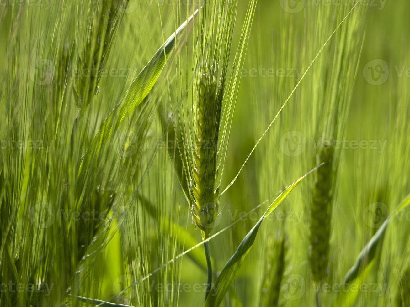
[{"label": "sharp green leaf blade curving up right of the central ear's stem", "polygon": [[[323,165],[323,164],[321,164]],[[255,242],[256,235],[258,230],[262,224],[262,221],[269,215],[273,210],[282,203],[282,201],[289,195],[290,192],[305,178],[307,175],[312,173],[321,165],[318,165],[310,172],[303,175],[301,178],[296,180],[292,185],[289,185],[274,201],[271,203],[268,209],[266,209],[265,213],[262,217],[257,221],[255,226],[248,232],[248,234],[244,237],[242,242],[239,244],[236,252],[230,257],[228,262],[223,267],[221,273],[218,276],[214,286],[211,289],[211,293],[207,296],[205,301],[204,307],[210,306],[219,306],[221,304],[223,297],[225,296],[226,291],[228,291],[230,284],[235,279],[235,276],[241,266],[242,261],[244,260],[245,256],[250,251],[253,242]]]}]

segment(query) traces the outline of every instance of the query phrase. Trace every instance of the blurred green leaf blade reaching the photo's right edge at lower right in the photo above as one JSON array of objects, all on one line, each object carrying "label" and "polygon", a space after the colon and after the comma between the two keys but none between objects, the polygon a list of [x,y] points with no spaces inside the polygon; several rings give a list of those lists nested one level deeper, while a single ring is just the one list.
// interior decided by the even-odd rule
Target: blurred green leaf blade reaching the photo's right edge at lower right
[{"label": "blurred green leaf blade reaching the photo's right edge at lower right", "polygon": [[[371,268],[374,265],[376,255],[378,254],[378,246],[383,241],[383,237],[386,233],[387,225],[390,221],[397,216],[397,214],[406,208],[410,204],[410,194],[406,196],[401,203],[398,205],[396,210],[387,217],[382,226],[378,231],[371,237],[370,241],[364,246],[360,252],[355,264],[349,269],[344,278],[343,284],[349,284],[360,280],[363,282],[367,275],[371,272]],[[357,282],[356,282],[357,283]],[[360,283],[359,283],[360,284]],[[354,304],[356,297],[358,296],[357,291],[350,291],[345,293],[340,292],[333,302],[333,306],[351,306]]]}]

